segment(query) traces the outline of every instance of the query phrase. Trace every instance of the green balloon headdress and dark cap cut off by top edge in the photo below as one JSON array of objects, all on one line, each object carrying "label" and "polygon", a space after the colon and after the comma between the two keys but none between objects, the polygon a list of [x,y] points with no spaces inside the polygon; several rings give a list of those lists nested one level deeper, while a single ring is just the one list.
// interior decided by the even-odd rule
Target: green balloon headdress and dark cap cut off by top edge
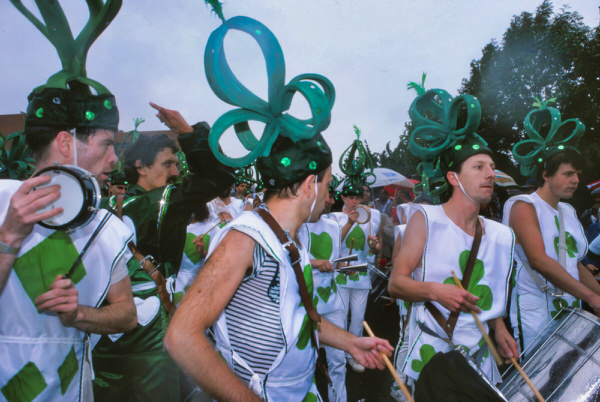
[{"label": "green balloon headdress and dark cap cut off by top edge", "polygon": [[116,131],[115,98],[104,85],[87,77],[85,63],[90,46],[115,18],[122,0],[87,0],[90,17],[76,38],[58,1],[35,1],[44,22],[20,0],[11,2],[52,43],[62,64],[61,71],[29,95],[25,127]]}]

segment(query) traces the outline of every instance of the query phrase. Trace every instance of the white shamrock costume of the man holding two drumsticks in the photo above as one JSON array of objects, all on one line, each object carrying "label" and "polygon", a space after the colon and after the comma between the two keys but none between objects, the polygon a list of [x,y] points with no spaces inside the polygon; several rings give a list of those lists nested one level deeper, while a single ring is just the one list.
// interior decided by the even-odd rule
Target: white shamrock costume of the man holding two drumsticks
[{"label": "white shamrock costume of the man holding two drumsticks", "polygon": [[[419,208],[425,215],[427,241],[421,260],[421,275],[420,278],[415,279],[454,285],[451,271],[455,272],[459,280],[462,279],[473,237],[452,222],[441,205],[422,205]],[[506,311],[514,235],[510,228],[485,218],[483,218],[483,230],[484,235],[481,238],[467,290],[480,298],[478,306],[481,313],[478,317],[487,327],[487,321],[502,317]],[[432,304],[444,318],[448,318],[450,315],[448,309],[437,302]],[[413,302],[413,313],[417,327],[414,328],[414,336],[411,333],[411,345],[403,371],[417,379],[421,369],[433,354],[447,352],[450,347],[442,339],[447,335],[425,309],[424,302]],[[421,326],[425,326],[437,336],[423,331]],[[459,314],[452,342],[455,345],[465,346],[471,355],[485,344],[471,314]],[[489,351],[486,351],[483,359],[476,363],[481,365],[482,371],[491,381],[499,382],[498,371],[493,359],[490,358]]]}]

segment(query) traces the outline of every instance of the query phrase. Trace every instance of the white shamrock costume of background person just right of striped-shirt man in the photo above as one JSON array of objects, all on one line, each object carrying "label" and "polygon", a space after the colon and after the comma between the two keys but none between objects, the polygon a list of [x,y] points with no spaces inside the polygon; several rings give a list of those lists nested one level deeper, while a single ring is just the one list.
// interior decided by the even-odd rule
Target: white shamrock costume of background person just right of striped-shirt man
[{"label": "white shamrock costume of background person just right of striped-shirt man", "polygon": [[[341,232],[337,222],[333,219],[321,218],[314,223],[302,225],[298,231],[300,244],[309,250],[310,257],[316,260],[329,260],[330,262],[340,257]],[[335,263],[332,263],[335,268]],[[315,293],[319,298],[317,311],[327,314],[333,311],[344,310],[344,304],[338,294],[334,272],[321,272],[312,270]]]}]

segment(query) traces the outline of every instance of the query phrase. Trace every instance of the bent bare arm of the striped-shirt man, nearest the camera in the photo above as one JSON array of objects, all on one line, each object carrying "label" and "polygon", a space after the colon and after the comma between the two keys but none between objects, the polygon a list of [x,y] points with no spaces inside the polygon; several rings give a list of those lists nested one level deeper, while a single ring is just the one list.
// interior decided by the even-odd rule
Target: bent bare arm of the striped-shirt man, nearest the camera
[{"label": "bent bare arm of the striped-shirt man, nearest the camera", "polygon": [[184,296],[165,336],[165,347],[179,367],[217,400],[260,400],[205,335],[252,266],[254,245],[254,240],[235,230],[225,236]]}]

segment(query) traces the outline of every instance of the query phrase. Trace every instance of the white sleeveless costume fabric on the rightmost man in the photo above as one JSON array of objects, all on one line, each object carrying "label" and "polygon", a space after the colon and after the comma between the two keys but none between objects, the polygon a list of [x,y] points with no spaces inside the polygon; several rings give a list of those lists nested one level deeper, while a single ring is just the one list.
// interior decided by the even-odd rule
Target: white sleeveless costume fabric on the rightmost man
[{"label": "white sleeveless costume fabric on the rightmost man", "polygon": [[[546,255],[558,261],[558,254],[555,248],[555,243],[558,244],[559,236],[558,210],[552,208],[537,193],[518,195],[509,198],[504,205],[504,224],[508,225],[510,211],[517,201],[533,205],[540,225]],[[563,215],[567,247],[569,244],[572,246],[573,241],[576,247],[576,250],[569,250],[567,248],[565,269],[569,275],[579,280],[577,262],[587,252],[587,240],[573,207],[567,203],[559,202],[558,208],[561,209]],[[548,284],[550,287],[550,292],[542,292],[531,274],[524,267],[524,263],[528,263],[528,261],[521,245],[515,247],[515,257],[517,262],[515,273],[516,285],[513,290],[513,301],[511,304],[511,323],[515,329],[515,335],[521,338],[520,346],[527,348],[533,342],[536,335],[556,315],[561,304],[580,307],[580,302],[566,292],[561,298],[553,297],[554,285],[539,273],[532,271],[533,275],[537,275],[541,282]]]}]

